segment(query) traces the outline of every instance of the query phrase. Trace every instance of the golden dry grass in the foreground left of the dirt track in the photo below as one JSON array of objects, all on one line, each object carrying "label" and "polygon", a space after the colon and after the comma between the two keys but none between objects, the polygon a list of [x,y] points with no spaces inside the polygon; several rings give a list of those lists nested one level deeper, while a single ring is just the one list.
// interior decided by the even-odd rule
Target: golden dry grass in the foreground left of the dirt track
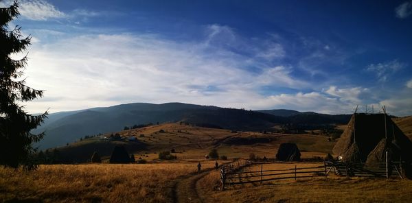
[{"label": "golden dry grass in the foreground left of the dirt track", "polygon": [[[171,202],[172,181],[197,163],[41,165],[37,171],[0,169],[0,202]],[[203,169],[214,161],[203,161]]]}]

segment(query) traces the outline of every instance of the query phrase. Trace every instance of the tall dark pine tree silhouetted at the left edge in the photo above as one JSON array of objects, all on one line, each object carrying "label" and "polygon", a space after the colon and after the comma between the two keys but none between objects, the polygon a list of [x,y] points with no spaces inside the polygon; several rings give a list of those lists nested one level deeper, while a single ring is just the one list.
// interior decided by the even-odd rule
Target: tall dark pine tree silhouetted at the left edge
[{"label": "tall dark pine tree silhouetted at the left edge", "polygon": [[9,8],[0,8],[0,165],[23,169],[36,169],[34,157],[36,149],[32,143],[43,138],[42,134],[32,134],[43,119],[43,115],[27,114],[21,102],[43,97],[38,91],[25,85],[23,70],[27,64],[27,55],[20,60],[13,60],[13,53],[21,53],[30,45],[31,36],[23,38],[21,27],[10,30],[8,23],[19,16],[19,4],[14,1]]}]

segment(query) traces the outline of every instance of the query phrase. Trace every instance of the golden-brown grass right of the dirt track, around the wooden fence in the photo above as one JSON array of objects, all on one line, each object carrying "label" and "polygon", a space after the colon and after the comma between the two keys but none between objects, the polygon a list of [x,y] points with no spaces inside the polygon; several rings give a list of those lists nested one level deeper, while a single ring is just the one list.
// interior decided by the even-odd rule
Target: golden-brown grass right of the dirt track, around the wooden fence
[{"label": "golden-brown grass right of the dirt track, around the wooden fence", "polygon": [[[268,164],[264,169],[314,167],[319,163]],[[249,169],[260,169],[254,165]],[[276,180],[263,184],[242,184],[227,187],[225,191],[210,186],[218,180],[218,173],[205,176],[198,182],[203,187],[205,202],[410,202],[411,180],[384,178],[298,178]]]}]

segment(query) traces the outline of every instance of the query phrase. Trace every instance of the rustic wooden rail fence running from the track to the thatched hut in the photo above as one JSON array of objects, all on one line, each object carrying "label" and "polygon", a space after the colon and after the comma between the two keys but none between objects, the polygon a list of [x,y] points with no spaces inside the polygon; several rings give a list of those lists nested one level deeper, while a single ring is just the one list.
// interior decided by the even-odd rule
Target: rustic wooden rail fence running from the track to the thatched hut
[{"label": "rustic wooden rail fence running from the track to the thatched hut", "polygon": [[[270,163],[270,164],[284,164],[285,162]],[[389,178],[392,175],[402,177],[402,163],[391,162],[380,163],[378,165],[365,167],[364,163],[346,164],[341,162],[324,161],[323,165],[314,167],[295,167],[288,169],[269,169],[264,170],[264,165],[268,163],[259,163],[260,170],[247,171],[245,167],[250,165],[257,165],[251,163],[249,160],[238,161],[230,165],[224,165],[220,169],[221,189],[225,186],[235,184],[247,184],[255,182],[265,182],[272,180],[284,180],[298,178],[313,178],[313,177],[328,177],[330,172],[338,176],[365,176],[365,177],[382,177]],[[286,163],[293,164],[293,163]],[[299,164],[299,163],[297,163]]]}]

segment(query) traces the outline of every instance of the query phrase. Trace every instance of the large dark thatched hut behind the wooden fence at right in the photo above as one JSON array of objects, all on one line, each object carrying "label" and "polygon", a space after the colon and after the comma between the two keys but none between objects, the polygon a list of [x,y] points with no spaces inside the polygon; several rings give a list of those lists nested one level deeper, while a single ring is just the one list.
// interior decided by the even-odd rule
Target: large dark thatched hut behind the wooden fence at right
[{"label": "large dark thatched hut behind the wooden fence at right", "polygon": [[334,154],[346,163],[367,162],[369,165],[385,162],[386,151],[389,160],[410,161],[411,150],[411,140],[385,113],[355,113],[333,148]]}]

